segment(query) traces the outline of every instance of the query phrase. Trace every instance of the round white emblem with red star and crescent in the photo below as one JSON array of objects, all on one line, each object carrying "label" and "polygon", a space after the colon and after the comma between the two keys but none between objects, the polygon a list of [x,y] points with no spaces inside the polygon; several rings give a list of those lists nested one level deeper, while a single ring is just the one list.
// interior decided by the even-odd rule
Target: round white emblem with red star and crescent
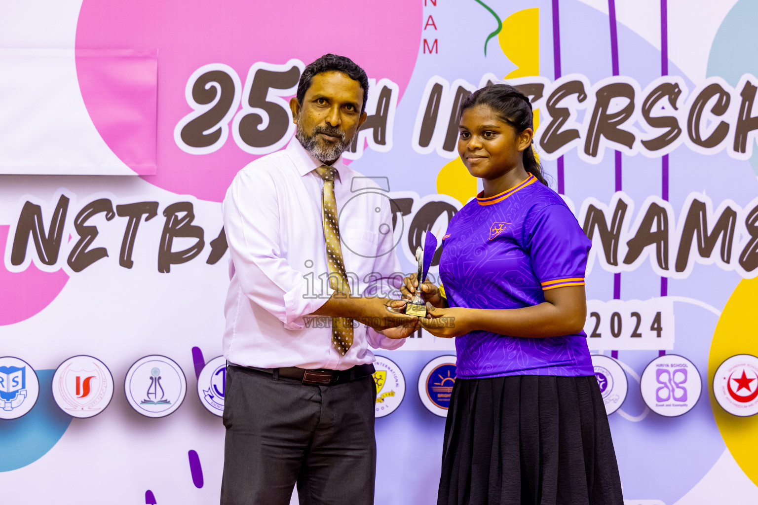
[{"label": "round white emblem with red star and crescent", "polygon": [[713,376],[713,396],[734,416],[758,413],[758,357],[738,354],[721,363]]}]

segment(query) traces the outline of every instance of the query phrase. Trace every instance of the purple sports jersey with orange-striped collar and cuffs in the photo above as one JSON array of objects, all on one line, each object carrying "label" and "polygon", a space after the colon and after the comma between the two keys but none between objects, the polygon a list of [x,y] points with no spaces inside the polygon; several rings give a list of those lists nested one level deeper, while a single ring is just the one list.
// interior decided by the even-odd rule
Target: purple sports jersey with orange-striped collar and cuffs
[{"label": "purple sports jersey with orange-striped collar and cuffs", "polygon": [[[530,174],[450,220],[440,278],[450,307],[515,309],[545,301],[543,291],[584,285],[591,242],[556,192]],[[456,338],[462,379],[513,375],[592,376],[584,332],[518,338],[476,331]]]}]

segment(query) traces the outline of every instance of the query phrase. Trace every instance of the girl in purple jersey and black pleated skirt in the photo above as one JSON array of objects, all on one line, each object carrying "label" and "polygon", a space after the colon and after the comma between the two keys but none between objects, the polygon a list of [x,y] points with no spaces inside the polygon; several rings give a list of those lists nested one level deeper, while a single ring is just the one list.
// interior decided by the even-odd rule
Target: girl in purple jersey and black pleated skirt
[{"label": "girl in purple jersey and black pleated skirt", "polygon": [[437,503],[622,505],[583,332],[590,241],[543,178],[528,98],[497,84],[461,111],[458,152],[484,191],[450,220],[444,288],[421,286],[421,325],[458,357]]}]

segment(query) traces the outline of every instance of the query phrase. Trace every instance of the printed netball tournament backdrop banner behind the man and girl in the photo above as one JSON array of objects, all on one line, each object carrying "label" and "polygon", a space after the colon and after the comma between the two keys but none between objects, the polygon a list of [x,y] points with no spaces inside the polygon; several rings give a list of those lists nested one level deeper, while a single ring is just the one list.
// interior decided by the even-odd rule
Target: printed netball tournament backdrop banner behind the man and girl
[{"label": "printed netball tournament backdrop banner behind the man and girl", "polygon": [[[625,503],[758,503],[756,2],[2,11],[3,503],[217,502],[221,201],[290,142],[287,101],[327,52],[370,78],[345,157],[390,199],[407,273],[481,189],[457,157],[462,98],[502,79],[528,95],[551,186],[593,242],[585,331]],[[454,342],[377,354],[376,503],[436,503]]]}]

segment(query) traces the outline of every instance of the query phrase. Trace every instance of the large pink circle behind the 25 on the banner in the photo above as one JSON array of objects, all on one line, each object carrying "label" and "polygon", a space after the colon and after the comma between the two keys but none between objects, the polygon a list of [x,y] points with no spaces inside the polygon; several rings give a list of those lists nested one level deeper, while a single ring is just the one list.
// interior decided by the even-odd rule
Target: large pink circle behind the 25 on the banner
[{"label": "large pink circle behind the 25 on the banner", "polygon": [[[155,101],[134,94],[135,83],[129,79],[124,79],[120,92],[121,80],[107,69],[87,64],[86,56],[92,55],[92,49],[129,50],[131,55],[158,51],[157,170],[143,178],[180,195],[221,201],[234,174],[260,155],[243,151],[231,135],[223,147],[208,154],[189,154],[177,146],[174,128],[193,111],[185,98],[193,72],[223,64],[235,70],[244,84],[257,62],[282,65],[296,58],[308,64],[332,52],[364,67],[369,78],[392,80],[402,96],[418,57],[422,8],[421,2],[407,0],[325,4],[84,0],[77,23],[80,89],[109,148],[137,173],[145,173],[138,166],[144,159],[134,155],[133,141],[124,140],[124,127],[141,129],[132,138],[154,142],[146,136],[149,129],[140,126],[145,122],[134,118],[154,117]],[[124,117],[127,126],[114,126],[114,117]]]}]

